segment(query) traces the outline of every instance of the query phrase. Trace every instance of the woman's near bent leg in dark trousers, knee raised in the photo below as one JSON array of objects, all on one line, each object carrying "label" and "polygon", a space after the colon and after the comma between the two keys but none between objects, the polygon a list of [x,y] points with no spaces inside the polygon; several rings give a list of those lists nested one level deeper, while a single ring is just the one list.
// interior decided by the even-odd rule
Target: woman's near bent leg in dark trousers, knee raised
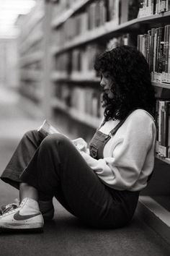
[{"label": "woman's near bent leg in dark trousers, knee raised", "polygon": [[71,213],[91,225],[117,227],[129,218],[124,206],[117,206],[107,187],[63,135],[46,137],[20,178],[46,200],[63,195],[63,206],[68,205]]}]

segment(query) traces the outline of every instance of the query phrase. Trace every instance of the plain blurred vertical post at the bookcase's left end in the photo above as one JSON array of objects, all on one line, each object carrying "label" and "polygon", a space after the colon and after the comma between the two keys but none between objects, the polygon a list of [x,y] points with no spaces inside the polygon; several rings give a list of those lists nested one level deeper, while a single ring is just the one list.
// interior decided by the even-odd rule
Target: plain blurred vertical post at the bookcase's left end
[{"label": "plain blurred vertical post at the bookcase's left end", "polygon": [[42,87],[43,87],[43,97],[42,97],[42,111],[45,116],[45,119],[50,119],[52,116],[52,108],[51,108],[51,92],[52,86],[50,81],[50,72],[51,72],[51,54],[50,54],[50,46],[51,46],[51,17],[52,17],[52,8],[53,3],[49,0],[45,0],[45,16],[43,23],[43,33],[44,33],[44,41],[43,41],[43,61],[42,61]]}]

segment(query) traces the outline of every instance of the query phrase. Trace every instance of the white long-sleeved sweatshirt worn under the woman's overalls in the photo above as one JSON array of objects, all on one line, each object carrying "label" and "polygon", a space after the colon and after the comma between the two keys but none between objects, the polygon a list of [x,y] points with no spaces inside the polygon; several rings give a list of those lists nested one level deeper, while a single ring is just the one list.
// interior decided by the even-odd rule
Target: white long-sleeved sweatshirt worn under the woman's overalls
[{"label": "white long-sleeved sweatshirt worn under the woman's overalls", "polygon": [[[99,130],[105,134],[119,121],[109,120]],[[109,187],[139,191],[153,171],[156,127],[143,109],[133,111],[104,146],[104,158],[96,160],[81,152],[86,163]]]}]

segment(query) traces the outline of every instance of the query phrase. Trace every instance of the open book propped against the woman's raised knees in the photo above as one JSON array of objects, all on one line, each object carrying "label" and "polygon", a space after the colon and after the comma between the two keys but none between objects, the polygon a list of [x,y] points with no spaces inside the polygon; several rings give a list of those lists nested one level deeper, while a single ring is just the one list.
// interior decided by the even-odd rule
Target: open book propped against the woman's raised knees
[{"label": "open book propped against the woman's raised knees", "polygon": [[[51,125],[47,120],[43,121],[42,125],[37,129],[37,132],[40,132],[43,137],[46,137],[48,135],[53,135],[54,133],[63,134],[63,132],[60,132],[58,129],[55,129],[55,127],[53,127],[53,125]],[[79,137],[76,140],[71,140],[71,142],[73,143],[73,145],[76,146],[78,150],[86,152],[87,143],[83,138]]]}]

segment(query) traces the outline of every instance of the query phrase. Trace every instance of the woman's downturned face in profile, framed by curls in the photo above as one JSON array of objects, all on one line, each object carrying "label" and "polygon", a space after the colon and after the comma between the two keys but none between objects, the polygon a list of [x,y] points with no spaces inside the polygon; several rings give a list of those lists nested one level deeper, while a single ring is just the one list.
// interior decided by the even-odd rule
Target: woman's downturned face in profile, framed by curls
[{"label": "woman's downturned face in profile, framed by curls", "polygon": [[114,98],[114,93],[111,91],[113,80],[109,72],[101,72],[100,85],[102,86],[104,93],[107,93],[108,98]]}]

